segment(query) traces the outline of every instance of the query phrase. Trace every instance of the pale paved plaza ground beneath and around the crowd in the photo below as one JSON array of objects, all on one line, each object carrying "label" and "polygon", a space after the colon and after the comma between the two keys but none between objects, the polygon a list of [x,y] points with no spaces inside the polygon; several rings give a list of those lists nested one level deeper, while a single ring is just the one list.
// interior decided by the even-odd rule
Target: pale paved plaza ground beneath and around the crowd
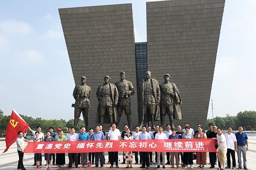
[{"label": "pale paved plaza ground beneath and around the crowd", "polygon": [[[256,136],[249,136],[248,137],[249,140],[249,151],[247,152],[247,167],[249,170],[254,170],[254,163],[255,163],[255,158],[256,158]],[[25,144],[27,144],[27,142],[25,142]],[[5,141],[1,140],[0,141],[0,169],[3,170],[15,170],[17,169],[17,162],[18,162],[18,154],[17,154],[17,147],[16,147],[16,143],[12,144],[12,146],[9,148],[9,150],[6,153],[3,153],[3,150],[6,148],[6,144]],[[154,153],[153,153],[154,154]],[[108,160],[108,153],[105,152],[105,158],[106,160]],[[119,152],[119,158],[120,158],[120,163],[122,162],[122,153]],[[154,155],[153,155],[154,158]],[[236,160],[237,160],[237,155],[236,155]],[[209,155],[207,154],[207,162],[209,163]],[[64,167],[67,167],[67,163],[68,163],[68,156],[66,154],[66,165]],[[135,163],[135,160],[134,160]],[[32,164],[34,164],[34,154],[33,153],[25,153],[24,154],[24,160],[23,160],[23,164],[25,166],[25,168],[27,170],[31,170],[31,169],[35,169],[35,166],[32,166]],[[44,155],[43,155],[43,161],[42,161],[42,166],[41,169],[44,169],[45,166],[45,161],[44,161]],[[140,169],[141,165],[140,164],[133,164],[133,169]],[[92,167],[88,167],[87,169],[95,169],[93,168],[94,165],[92,165]],[[109,164],[105,164],[104,165],[105,168],[109,169],[110,165]],[[119,164],[119,169],[126,169],[126,164]],[[149,169],[156,169],[156,165],[150,165]],[[161,166],[162,167],[162,166]],[[193,165],[194,169],[197,169],[198,165],[195,164],[195,160],[194,160],[194,165]],[[216,170],[217,168],[213,168],[213,169],[209,169],[210,165],[207,164],[205,166],[205,170]],[[217,166],[215,166],[217,167]],[[236,168],[238,167],[238,165],[236,166]],[[254,167],[254,168],[253,168]],[[53,170],[57,170],[57,169],[64,169],[64,168],[57,168],[56,166],[52,166]],[[69,168],[71,169],[71,168]],[[73,169],[75,169],[75,166],[73,166]],[[80,168],[81,169],[81,168]],[[114,166],[114,169],[115,166]],[[161,168],[160,168],[161,169]],[[171,165],[166,165],[166,169],[171,169]],[[176,169],[176,168],[174,168]],[[180,169],[184,169],[183,167],[180,166]],[[190,169],[190,168],[188,168]]]}]

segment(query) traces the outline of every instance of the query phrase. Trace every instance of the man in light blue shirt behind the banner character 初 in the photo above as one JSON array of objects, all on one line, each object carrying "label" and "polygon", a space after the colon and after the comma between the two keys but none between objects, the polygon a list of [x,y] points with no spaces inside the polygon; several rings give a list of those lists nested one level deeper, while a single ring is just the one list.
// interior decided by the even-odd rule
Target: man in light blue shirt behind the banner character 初
[{"label": "man in light blue shirt behind the banner character \u521d", "polygon": [[[140,133],[139,139],[151,139],[150,134],[146,132],[147,127],[143,126],[142,127],[142,133]],[[149,153],[148,152],[140,152],[140,156],[142,157],[142,166],[140,168],[149,168]]]}]

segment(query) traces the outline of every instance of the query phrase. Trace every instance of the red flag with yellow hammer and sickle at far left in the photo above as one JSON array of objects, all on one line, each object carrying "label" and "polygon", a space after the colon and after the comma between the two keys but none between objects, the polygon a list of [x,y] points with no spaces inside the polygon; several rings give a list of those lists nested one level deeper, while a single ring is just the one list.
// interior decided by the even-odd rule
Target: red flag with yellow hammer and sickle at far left
[{"label": "red flag with yellow hammer and sickle at far left", "polygon": [[29,125],[13,109],[9,124],[6,129],[6,149],[3,151],[3,153],[5,153],[9,149],[9,147],[16,141],[18,132],[22,131],[24,133],[28,129],[28,127]]}]

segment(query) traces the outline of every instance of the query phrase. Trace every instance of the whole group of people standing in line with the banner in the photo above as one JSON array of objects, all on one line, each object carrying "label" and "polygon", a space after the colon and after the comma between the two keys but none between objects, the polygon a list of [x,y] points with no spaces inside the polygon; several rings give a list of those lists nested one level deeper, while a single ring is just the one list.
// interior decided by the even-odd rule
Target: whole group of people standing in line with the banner
[{"label": "whole group of people standing in line with the banner", "polygon": [[[120,130],[116,128],[116,124],[112,123],[111,127],[109,127],[108,136],[102,130],[101,125],[97,125],[95,127],[95,132],[90,128],[89,133],[86,133],[85,127],[80,128],[80,133],[76,133],[76,129],[74,127],[69,128],[69,133],[64,136],[63,130],[60,128],[57,129],[58,134],[53,132],[53,127],[49,127],[49,131],[47,131],[47,135],[44,136],[44,133],[41,132],[41,127],[37,127],[37,131],[32,130],[29,127],[29,130],[32,132],[34,136],[34,142],[51,142],[51,141],[87,141],[87,140],[140,140],[140,139],[206,139],[212,138],[218,141],[218,144],[215,145],[216,151],[209,153],[209,161],[210,168],[215,168],[215,164],[217,164],[218,157],[218,170],[225,170],[225,168],[236,168],[236,160],[235,160],[235,152],[238,154],[238,169],[242,168],[241,164],[241,153],[243,156],[243,167],[246,170],[246,151],[248,150],[248,137],[246,133],[243,132],[243,127],[241,125],[238,126],[239,132],[236,134],[232,133],[233,128],[228,127],[227,133],[223,134],[222,129],[217,125],[209,125],[209,130],[205,133],[203,127],[198,124],[197,130],[194,131],[189,123],[185,123],[184,129],[180,125],[177,128],[171,128],[171,125],[166,125],[166,130],[163,130],[163,127],[156,125],[156,131],[151,132],[151,126],[147,127],[143,125],[142,131],[140,131],[140,127],[135,127],[135,132],[131,133],[131,129],[129,129],[128,125],[124,126],[124,130],[120,133]],[[17,150],[19,155],[18,167],[17,169],[26,170],[23,166],[22,158],[23,158],[23,150],[24,150],[24,141],[29,142],[28,140],[23,138],[23,133],[20,131],[17,137]],[[150,164],[154,164],[152,160],[152,152],[134,152],[135,154],[135,164],[142,164],[140,168],[149,168]],[[193,154],[192,152],[157,152],[155,155],[155,162],[157,164],[157,168],[160,168],[162,164],[163,169],[165,169],[166,164],[171,164],[171,168],[174,168],[174,165],[178,169],[179,162],[181,159],[181,166],[185,169],[190,166],[193,169]],[[113,168],[113,165],[118,168],[118,152],[108,152],[109,161],[108,164],[111,164],[110,168]],[[138,157],[140,155],[140,159]],[[165,159],[166,155],[166,159]],[[180,156],[179,156],[180,155]],[[218,155],[218,156],[216,156]],[[232,157],[232,166],[230,161],[230,155]],[[72,167],[75,164],[75,167],[87,167],[88,164],[94,164],[94,156],[95,156],[95,167],[104,167],[105,164],[105,154],[104,152],[99,153],[68,153],[69,163],[67,168]],[[56,160],[54,153],[45,153],[44,154],[46,167],[51,167],[51,160],[53,158],[52,164],[55,164],[57,167],[64,167],[65,164],[65,153],[56,153]],[[80,159],[81,157],[81,159]],[[42,161],[41,153],[35,153],[35,168],[40,168]],[[227,166],[225,167],[227,161]],[[125,151],[123,153],[123,162],[122,164],[127,164],[126,168],[132,168],[133,163],[133,152]],[[196,153],[196,164],[198,164],[198,168],[204,168],[207,164],[207,156],[206,152],[197,152]]]}]

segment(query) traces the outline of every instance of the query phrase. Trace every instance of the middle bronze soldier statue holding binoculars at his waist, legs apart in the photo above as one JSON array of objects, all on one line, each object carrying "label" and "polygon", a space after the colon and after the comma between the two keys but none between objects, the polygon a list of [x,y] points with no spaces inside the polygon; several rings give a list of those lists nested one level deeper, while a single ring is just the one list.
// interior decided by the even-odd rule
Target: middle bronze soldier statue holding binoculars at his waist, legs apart
[{"label": "middle bronze soldier statue holding binoculars at his waist, legs apart", "polygon": [[134,87],[130,81],[125,79],[125,72],[120,73],[120,81],[115,83],[119,92],[118,104],[117,104],[117,125],[119,127],[123,110],[127,116],[128,127],[131,128],[131,95],[134,95]]}]

